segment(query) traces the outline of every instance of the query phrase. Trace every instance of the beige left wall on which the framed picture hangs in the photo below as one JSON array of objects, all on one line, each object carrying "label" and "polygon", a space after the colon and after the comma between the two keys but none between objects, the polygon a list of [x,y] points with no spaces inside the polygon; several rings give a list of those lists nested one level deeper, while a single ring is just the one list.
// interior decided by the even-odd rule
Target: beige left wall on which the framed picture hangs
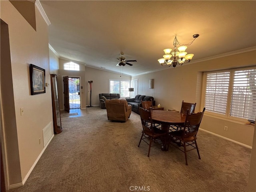
[{"label": "beige left wall on which the framed picture hangs", "polygon": [[[9,1],[0,1],[0,3],[1,19],[9,27],[14,118],[16,118],[18,155],[20,158],[20,161],[7,159],[7,162],[10,166],[20,164],[20,170],[17,170],[16,174],[20,171],[23,181],[44,148],[43,142],[39,144],[39,138],[43,138],[42,130],[49,123],[52,123],[50,87],[46,87],[44,94],[31,95],[29,76],[29,64],[34,64],[45,69],[46,82],[50,83],[48,26],[37,8],[35,10],[35,31]],[[20,108],[24,108],[23,116],[20,115]],[[8,129],[8,127],[4,127],[4,129]],[[6,139],[17,142],[16,138],[11,135],[7,135],[4,140]],[[12,151],[12,148],[6,148],[6,151]],[[12,152],[16,153],[16,151]],[[16,174],[13,172],[8,172],[8,174],[8,183],[10,185],[17,184]]]}]

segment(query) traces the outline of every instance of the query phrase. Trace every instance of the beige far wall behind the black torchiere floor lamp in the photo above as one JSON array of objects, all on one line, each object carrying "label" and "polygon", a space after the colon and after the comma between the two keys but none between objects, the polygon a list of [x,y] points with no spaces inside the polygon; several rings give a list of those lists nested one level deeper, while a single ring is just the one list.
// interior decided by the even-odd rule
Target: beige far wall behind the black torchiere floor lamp
[{"label": "beige far wall behind the black torchiere floor lamp", "polygon": [[90,105],[88,98],[90,97],[88,92],[88,81],[93,81],[92,83],[92,106],[99,105],[99,94],[100,93],[109,93],[109,79],[116,80],[131,80],[130,76],[121,75],[117,73],[112,73],[104,70],[98,70],[90,67],[85,67],[85,76],[86,76],[86,94],[87,105]]}]

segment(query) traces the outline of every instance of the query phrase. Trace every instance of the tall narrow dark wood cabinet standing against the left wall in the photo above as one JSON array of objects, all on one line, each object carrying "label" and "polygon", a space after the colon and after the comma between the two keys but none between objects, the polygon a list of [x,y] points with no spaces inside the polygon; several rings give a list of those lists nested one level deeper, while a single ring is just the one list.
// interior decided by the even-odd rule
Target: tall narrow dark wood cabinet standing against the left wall
[{"label": "tall narrow dark wood cabinet standing against the left wall", "polygon": [[51,88],[52,88],[52,118],[54,134],[62,132],[61,118],[60,118],[60,102],[57,75],[51,74]]}]

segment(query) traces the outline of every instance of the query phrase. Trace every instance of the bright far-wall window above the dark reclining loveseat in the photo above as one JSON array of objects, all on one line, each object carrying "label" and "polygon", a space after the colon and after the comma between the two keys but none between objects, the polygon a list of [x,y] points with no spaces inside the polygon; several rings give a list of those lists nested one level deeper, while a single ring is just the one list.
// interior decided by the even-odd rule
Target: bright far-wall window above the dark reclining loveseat
[{"label": "bright far-wall window above the dark reclining loveseat", "polygon": [[109,92],[119,93],[121,98],[129,96],[128,88],[130,88],[129,80],[109,80]]}]

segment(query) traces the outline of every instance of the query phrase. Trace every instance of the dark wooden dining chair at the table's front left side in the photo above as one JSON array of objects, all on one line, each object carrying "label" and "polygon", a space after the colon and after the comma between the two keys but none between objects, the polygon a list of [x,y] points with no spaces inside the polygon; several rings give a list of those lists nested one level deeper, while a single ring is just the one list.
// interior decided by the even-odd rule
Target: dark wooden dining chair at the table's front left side
[{"label": "dark wooden dining chair at the table's front left side", "polygon": [[[162,142],[160,142],[159,140],[165,141],[166,136],[168,136],[168,132],[161,130],[153,125],[150,110],[146,110],[141,107],[139,108],[139,110],[140,110],[140,119],[142,124],[142,135],[140,137],[140,142],[141,140],[143,140],[144,142],[146,142],[146,144],[149,145],[149,148],[148,148],[148,157],[149,157],[150,148],[152,147],[152,142],[154,142],[153,146],[161,144]],[[148,143],[148,140],[149,140],[149,143]],[[138,144],[138,147],[140,146],[140,142]]]}]

